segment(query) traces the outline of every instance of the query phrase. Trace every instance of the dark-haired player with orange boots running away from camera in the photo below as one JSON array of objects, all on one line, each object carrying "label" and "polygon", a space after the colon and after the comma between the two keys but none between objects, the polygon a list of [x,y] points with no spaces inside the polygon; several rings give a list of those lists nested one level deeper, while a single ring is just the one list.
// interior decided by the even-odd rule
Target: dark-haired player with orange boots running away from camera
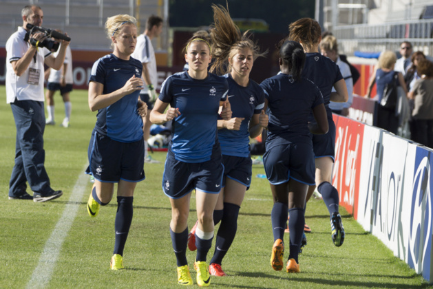
[{"label": "dark-haired player with orange boots running away from camera", "polygon": [[[304,206],[315,174],[309,133],[328,131],[323,97],[302,73],[305,59],[299,43],[285,41],[279,50],[281,73],[260,84],[265,92],[264,109],[269,113],[263,161],[274,200],[271,266],[277,271],[284,266],[284,226],[289,214],[290,253],[286,272],[300,272],[298,255],[304,233]],[[312,111],[315,122],[309,123]]]}]

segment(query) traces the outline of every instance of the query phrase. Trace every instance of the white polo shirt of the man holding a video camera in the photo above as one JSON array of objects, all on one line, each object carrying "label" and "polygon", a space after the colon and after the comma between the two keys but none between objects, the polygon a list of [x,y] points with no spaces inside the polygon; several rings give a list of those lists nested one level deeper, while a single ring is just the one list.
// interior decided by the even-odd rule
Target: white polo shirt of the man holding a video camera
[{"label": "white polo shirt of the man holding a video camera", "polygon": [[30,43],[24,41],[27,31],[19,27],[6,42],[6,101],[13,103],[18,100],[43,101],[43,62],[45,57],[51,54],[45,47],[38,48],[34,60],[21,76],[15,74],[12,69],[12,61],[18,61],[24,56],[30,47]]}]

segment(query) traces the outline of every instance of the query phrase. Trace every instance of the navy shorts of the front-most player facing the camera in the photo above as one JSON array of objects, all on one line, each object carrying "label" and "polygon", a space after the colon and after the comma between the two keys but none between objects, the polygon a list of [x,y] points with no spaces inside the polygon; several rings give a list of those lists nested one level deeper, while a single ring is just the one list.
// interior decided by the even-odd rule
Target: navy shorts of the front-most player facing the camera
[{"label": "navy shorts of the front-most player facing the camera", "polygon": [[169,149],[162,176],[162,190],[172,199],[183,197],[193,189],[204,193],[220,193],[223,173],[219,144],[214,146],[211,160],[198,163],[176,160]]}]

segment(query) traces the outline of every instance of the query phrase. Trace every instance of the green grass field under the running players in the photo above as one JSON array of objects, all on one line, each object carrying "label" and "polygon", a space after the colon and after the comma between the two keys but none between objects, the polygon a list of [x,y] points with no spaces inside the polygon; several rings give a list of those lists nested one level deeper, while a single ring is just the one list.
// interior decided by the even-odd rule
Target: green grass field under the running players
[{"label": "green grass field under the running players", "polygon": [[[169,200],[162,193],[165,153],[152,156],[162,164],[145,166],[146,180],[134,196],[134,220],[124,253],[126,270],[109,270],[114,247],[116,200],[101,208],[98,217],[86,211],[91,183],[83,171],[96,113],[87,107],[87,92],[74,91],[71,126],[45,128],[45,167],[56,190],[64,194],[45,203],[8,200],[8,182],[14,164],[15,128],[5,88],[0,87],[0,288],[180,288],[176,257],[171,248]],[[56,121],[63,119],[63,103],[56,100]],[[253,183],[240,211],[238,232],[223,261],[229,277],[213,277],[218,288],[427,288],[425,280],[392,255],[376,237],[343,208],[346,240],[332,244],[328,211],[311,200],[306,223],[313,233],[299,257],[302,272],[275,272],[270,264],[271,192],[264,173],[253,166]],[[31,193],[30,189],[28,192]],[[191,200],[189,227],[196,222]],[[218,226],[217,226],[218,229]],[[286,235],[288,242],[288,235]],[[213,253],[213,248],[211,252]],[[209,254],[210,255],[210,254]],[[191,275],[195,253],[187,252]],[[208,260],[210,260],[208,256]],[[197,286],[197,285],[194,285]]]}]

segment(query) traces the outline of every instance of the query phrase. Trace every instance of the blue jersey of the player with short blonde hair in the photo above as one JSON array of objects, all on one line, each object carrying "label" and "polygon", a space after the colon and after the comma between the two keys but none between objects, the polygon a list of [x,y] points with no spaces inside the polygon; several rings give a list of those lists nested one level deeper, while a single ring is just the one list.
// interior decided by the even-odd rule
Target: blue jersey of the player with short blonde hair
[{"label": "blue jersey of the player with short blonde hair", "polygon": [[[103,56],[92,67],[90,81],[104,85],[103,94],[109,94],[125,85],[129,78],[141,77],[142,64],[129,58],[122,60],[114,54]],[[140,91],[123,96],[116,103],[98,110],[95,129],[98,133],[119,142],[136,142],[142,138],[142,118],[137,102]]]}]

